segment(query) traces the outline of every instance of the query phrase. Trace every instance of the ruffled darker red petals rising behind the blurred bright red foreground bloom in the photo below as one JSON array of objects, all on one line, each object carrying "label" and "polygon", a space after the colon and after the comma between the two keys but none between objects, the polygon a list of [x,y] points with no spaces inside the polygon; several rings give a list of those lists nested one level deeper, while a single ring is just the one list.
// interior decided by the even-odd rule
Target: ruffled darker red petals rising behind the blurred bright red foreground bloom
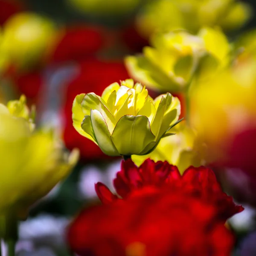
[{"label": "ruffled darker red petals rising behind the blurred bright red foreground bloom", "polygon": [[[168,162],[155,163],[147,159],[137,167],[132,160],[127,160],[122,162],[121,171],[117,172],[113,184],[116,193],[124,199],[134,190],[143,187],[166,186],[172,193],[184,193],[214,204],[218,209],[219,218],[224,221],[243,210],[243,207],[234,204],[232,197],[222,191],[214,172],[204,166],[190,166],[181,176],[177,167]],[[119,200],[102,183],[96,183],[95,189],[103,204]]]}]

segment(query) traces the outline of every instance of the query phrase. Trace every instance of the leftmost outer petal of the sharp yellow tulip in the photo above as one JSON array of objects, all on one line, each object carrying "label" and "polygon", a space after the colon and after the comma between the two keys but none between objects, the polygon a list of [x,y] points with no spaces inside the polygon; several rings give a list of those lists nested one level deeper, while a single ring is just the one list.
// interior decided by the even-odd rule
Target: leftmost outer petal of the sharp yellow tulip
[{"label": "leftmost outer petal of the sharp yellow tulip", "polygon": [[72,106],[73,126],[76,129],[76,131],[79,132],[79,134],[81,134],[82,136],[94,142],[93,137],[90,136],[90,134],[88,134],[81,128],[81,122],[84,119],[84,113],[82,111],[81,102],[83,101],[84,95],[85,93],[81,93],[77,95],[76,98],[74,99],[73,106]]}]

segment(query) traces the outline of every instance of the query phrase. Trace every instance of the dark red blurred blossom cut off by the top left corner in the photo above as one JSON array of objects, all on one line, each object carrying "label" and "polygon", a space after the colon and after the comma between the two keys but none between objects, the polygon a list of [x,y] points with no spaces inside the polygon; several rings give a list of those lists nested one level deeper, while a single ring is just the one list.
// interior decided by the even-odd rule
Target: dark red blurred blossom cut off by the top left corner
[{"label": "dark red blurred blossom cut off by the top left corner", "polygon": [[17,0],[0,0],[0,26],[12,15],[23,11],[24,6]]}]

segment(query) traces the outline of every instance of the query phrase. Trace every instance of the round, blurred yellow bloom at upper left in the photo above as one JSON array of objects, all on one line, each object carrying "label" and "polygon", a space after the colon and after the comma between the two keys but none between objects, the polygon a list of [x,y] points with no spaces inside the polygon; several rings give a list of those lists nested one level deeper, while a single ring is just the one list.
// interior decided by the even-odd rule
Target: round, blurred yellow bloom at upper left
[{"label": "round, blurred yellow bloom at upper left", "polygon": [[[3,26],[0,52],[4,61],[18,68],[31,67],[42,61],[55,38],[54,23],[35,13],[19,13],[10,17]],[[2,57],[3,58],[3,57]]]}]

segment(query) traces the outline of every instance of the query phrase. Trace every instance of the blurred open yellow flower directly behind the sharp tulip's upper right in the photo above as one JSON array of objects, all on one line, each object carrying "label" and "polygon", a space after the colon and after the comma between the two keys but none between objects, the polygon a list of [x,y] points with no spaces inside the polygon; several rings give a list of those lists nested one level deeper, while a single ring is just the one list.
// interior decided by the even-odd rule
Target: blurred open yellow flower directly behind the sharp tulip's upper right
[{"label": "blurred open yellow flower directly behind the sharp tulip's upper right", "polygon": [[154,35],[151,44],[125,63],[136,80],[162,91],[184,92],[193,76],[206,76],[229,61],[230,45],[218,29],[203,28],[196,36],[185,31]]}]

